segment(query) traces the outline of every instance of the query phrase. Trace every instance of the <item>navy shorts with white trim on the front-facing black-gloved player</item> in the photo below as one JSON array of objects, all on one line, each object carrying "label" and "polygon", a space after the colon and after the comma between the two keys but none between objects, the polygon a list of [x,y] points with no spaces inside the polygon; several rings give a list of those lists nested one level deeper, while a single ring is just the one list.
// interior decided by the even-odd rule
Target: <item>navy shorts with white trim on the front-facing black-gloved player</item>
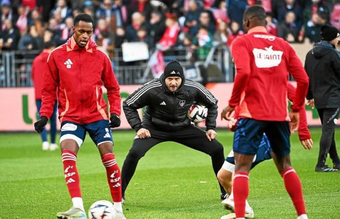
[{"label": "navy shorts with white trim on the front-facing black-gloved player", "polygon": [[73,139],[80,147],[85,140],[87,131],[96,146],[104,142],[111,142],[113,144],[108,120],[98,120],[88,124],[64,121],[61,123],[60,131],[60,143],[66,139]]}]

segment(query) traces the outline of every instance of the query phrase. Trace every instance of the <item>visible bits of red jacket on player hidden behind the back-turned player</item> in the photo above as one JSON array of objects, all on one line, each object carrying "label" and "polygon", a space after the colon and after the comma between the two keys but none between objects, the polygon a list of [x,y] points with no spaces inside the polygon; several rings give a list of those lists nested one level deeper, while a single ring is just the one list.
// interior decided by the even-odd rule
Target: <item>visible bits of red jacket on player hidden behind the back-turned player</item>
[{"label": "visible bits of red jacket on player hidden behind the back-turned player", "polygon": [[[288,99],[291,102],[293,102],[296,89],[290,82],[288,82],[287,85],[288,85],[287,86]],[[235,119],[238,119],[238,117],[239,117],[238,113],[239,113],[239,107],[236,107],[235,113],[234,113],[234,116],[233,116]],[[301,108],[301,110],[299,111],[299,114],[300,114],[299,129],[298,129],[299,139],[300,139],[300,141],[305,141],[307,139],[311,139],[310,132],[309,132],[308,125],[307,125],[307,116],[306,116],[305,106],[303,106]],[[235,128],[236,128],[236,124],[235,124],[235,126],[233,126],[232,128],[229,128],[229,129],[234,131]]]}]

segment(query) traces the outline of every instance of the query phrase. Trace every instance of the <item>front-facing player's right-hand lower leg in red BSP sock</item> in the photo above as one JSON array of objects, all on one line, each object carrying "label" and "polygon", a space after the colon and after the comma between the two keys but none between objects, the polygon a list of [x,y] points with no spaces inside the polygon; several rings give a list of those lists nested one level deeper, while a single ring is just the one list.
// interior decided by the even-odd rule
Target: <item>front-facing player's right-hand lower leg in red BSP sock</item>
[{"label": "front-facing player's right-hand lower leg in red BSP sock", "polygon": [[112,153],[112,147],[112,142],[104,142],[98,145],[98,149],[102,156],[102,164],[106,169],[107,183],[109,184],[114,207],[122,214],[120,169],[116,162],[115,155]]}]

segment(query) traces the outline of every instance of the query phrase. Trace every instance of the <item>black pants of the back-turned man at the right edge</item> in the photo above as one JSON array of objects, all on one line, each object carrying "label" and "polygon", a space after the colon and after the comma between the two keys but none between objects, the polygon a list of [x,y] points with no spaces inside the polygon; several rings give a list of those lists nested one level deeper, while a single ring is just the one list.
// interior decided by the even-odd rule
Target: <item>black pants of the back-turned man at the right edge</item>
[{"label": "black pants of the back-turned man at the right edge", "polygon": [[323,167],[325,165],[328,153],[333,164],[339,164],[340,160],[335,146],[334,133],[336,121],[339,118],[340,108],[317,110],[323,125],[323,130],[320,139],[318,164],[316,166]]}]

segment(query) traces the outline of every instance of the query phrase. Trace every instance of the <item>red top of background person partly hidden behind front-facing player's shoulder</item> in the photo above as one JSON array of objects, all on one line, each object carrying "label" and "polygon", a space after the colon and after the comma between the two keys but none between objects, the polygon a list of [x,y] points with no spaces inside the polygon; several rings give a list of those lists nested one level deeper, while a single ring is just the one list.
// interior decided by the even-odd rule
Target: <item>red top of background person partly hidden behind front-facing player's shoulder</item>
[{"label": "red top of background person partly hidden behind front-facing player's shoulder", "polygon": [[47,58],[50,53],[51,50],[45,49],[33,60],[31,75],[36,100],[41,100],[41,87],[44,81],[44,73],[47,70]]}]

